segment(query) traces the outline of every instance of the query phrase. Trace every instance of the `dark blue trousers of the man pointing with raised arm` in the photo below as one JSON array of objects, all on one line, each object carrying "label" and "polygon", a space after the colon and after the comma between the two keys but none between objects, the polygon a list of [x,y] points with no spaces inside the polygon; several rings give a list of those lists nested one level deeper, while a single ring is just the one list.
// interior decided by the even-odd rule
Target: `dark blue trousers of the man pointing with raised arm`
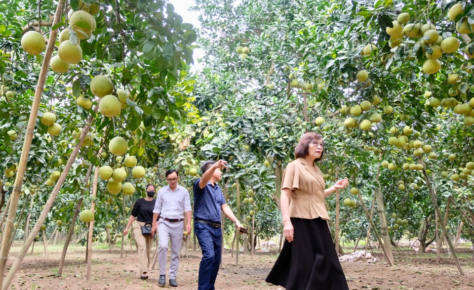
[{"label": "dark blue trousers of the man pointing with raised arm", "polygon": [[222,229],[195,223],[194,232],[202,250],[197,290],[215,290],[214,283],[222,258]]}]

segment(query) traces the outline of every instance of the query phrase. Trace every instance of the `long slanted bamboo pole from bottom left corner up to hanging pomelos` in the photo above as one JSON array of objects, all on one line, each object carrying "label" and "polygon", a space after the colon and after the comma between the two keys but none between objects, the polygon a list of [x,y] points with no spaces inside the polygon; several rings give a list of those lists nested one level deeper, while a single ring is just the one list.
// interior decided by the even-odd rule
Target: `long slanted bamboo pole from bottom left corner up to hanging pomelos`
[{"label": "long slanted bamboo pole from bottom left corner up to hanging pomelos", "polygon": [[[94,112],[97,113],[98,110],[99,110],[99,105],[96,105],[94,107]],[[66,177],[69,173],[69,170],[71,170],[71,167],[73,166],[73,163],[76,161],[76,157],[78,156],[79,149],[82,146],[82,143],[84,142],[85,136],[89,132],[90,125],[94,122],[94,120],[95,120],[95,114],[93,114],[89,117],[86,125],[82,129],[82,133],[80,134],[80,137],[79,137],[79,143],[74,148],[73,152],[71,153],[71,156],[69,156],[69,159],[66,163],[66,166],[64,167],[64,170],[61,173],[61,176],[59,176],[59,179],[57,180],[56,185],[54,186],[53,191],[51,192],[51,195],[49,196],[48,201],[44,205],[44,209],[41,212],[40,218],[38,219],[35,226],[33,227],[33,230],[31,232],[30,236],[28,237],[28,239],[25,241],[25,244],[20,249],[20,252],[18,253],[18,256],[16,257],[15,261],[13,262],[13,264],[10,268],[10,271],[8,271],[8,275],[6,276],[6,281],[3,281],[2,290],[7,290],[8,286],[10,285],[11,281],[13,280],[13,277],[15,276],[16,271],[20,267],[20,264],[23,261],[23,258],[25,257],[26,251],[28,250],[31,243],[35,239],[36,234],[40,230],[41,224],[46,219],[46,216],[49,212],[49,209],[51,208],[54,200],[56,199],[56,197],[59,193],[59,190],[63,186],[64,181],[66,180]]]}]

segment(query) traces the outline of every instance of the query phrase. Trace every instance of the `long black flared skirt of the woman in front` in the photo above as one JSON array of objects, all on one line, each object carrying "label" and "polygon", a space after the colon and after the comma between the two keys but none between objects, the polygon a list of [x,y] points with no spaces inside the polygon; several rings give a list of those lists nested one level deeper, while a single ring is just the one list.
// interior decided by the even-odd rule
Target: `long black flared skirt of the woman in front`
[{"label": "long black flared skirt of the woman in front", "polygon": [[285,240],[266,282],[286,290],[349,290],[327,221],[291,218],[293,242]]}]

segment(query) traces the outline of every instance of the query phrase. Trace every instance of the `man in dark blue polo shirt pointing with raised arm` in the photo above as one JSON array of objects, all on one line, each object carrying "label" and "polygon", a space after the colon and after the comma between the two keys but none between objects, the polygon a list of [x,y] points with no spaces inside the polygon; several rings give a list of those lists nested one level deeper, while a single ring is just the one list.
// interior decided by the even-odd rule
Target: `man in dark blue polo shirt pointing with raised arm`
[{"label": "man in dark blue polo shirt pointing with raised arm", "polygon": [[202,250],[197,290],[215,290],[222,256],[221,210],[238,229],[242,227],[216,184],[222,178],[221,169],[226,167],[227,161],[208,160],[201,166],[202,177],[194,182],[194,232]]}]

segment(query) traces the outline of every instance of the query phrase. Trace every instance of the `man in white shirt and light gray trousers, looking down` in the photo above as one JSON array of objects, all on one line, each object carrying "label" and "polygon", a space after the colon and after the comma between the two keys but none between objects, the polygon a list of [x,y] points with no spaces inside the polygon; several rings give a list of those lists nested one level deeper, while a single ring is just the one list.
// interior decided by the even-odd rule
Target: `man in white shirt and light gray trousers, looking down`
[{"label": "man in white shirt and light gray trousers, looking down", "polygon": [[153,210],[152,236],[156,231],[156,220],[158,221],[158,266],[159,286],[166,284],[166,256],[168,242],[171,241],[171,261],[169,264],[169,286],[178,287],[176,274],[179,266],[179,252],[183,240],[184,214],[186,213],[186,232],[191,232],[191,200],[186,188],[178,185],[178,171],[169,169],[166,171],[168,185],[159,189],[157,202]]}]

